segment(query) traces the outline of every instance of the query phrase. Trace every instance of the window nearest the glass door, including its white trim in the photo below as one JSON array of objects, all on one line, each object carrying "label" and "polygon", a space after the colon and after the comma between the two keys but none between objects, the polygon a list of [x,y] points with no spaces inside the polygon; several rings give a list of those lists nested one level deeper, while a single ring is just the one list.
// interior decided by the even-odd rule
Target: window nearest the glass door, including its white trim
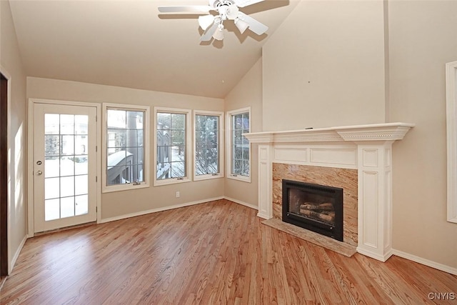
[{"label": "window nearest the glass door, including its white trim", "polygon": [[149,107],[104,104],[104,191],[149,186]]}]

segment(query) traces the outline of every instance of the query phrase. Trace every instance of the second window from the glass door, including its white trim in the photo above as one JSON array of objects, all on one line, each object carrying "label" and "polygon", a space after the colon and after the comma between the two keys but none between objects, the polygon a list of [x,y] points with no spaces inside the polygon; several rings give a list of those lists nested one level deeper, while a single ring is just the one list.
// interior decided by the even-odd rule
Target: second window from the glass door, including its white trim
[{"label": "second window from the glass door, including its white trim", "polygon": [[154,184],[189,181],[190,110],[156,107]]}]

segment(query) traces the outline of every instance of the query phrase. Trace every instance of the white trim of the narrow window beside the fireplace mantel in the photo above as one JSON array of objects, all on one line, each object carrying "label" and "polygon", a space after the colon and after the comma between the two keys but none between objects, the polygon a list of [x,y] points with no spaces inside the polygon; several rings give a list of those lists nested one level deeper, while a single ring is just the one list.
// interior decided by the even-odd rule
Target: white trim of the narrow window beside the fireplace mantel
[{"label": "white trim of the narrow window beside the fireplace mantel", "polygon": [[226,112],[226,177],[233,180],[243,181],[243,182],[251,182],[251,154],[252,154],[252,147],[251,143],[249,143],[249,176],[238,176],[233,175],[231,173],[231,116],[236,114],[243,114],[248,112],[249,114],[249,132],[251,132],[252,126],[252,118],[251,118],[251,107],[246,107],[242,109],[236,109],[232,111]]}]

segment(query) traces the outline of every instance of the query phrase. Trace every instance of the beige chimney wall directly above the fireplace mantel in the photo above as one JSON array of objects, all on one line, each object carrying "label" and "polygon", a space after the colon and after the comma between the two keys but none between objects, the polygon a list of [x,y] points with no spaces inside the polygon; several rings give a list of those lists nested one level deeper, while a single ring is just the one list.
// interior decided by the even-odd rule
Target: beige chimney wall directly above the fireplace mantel
[{"label": "beige chimney wall directly above the fireplace mantel", "polygon": [[383,1],[301,1],[263,47],[263,131],[383,123]]}]

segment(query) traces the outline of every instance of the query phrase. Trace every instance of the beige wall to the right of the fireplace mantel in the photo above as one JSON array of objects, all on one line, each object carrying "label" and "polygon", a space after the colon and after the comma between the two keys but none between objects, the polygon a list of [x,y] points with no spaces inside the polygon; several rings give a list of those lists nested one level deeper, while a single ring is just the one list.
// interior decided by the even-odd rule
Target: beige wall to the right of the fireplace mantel
[{"label": "beige wall to the right of the fireplace mantel", "polygon": [[415,123],[393,145],[393,248],[457,268],[446,221],[445,64],[457,60],[457,1],[389,1],[391,121]]}]

